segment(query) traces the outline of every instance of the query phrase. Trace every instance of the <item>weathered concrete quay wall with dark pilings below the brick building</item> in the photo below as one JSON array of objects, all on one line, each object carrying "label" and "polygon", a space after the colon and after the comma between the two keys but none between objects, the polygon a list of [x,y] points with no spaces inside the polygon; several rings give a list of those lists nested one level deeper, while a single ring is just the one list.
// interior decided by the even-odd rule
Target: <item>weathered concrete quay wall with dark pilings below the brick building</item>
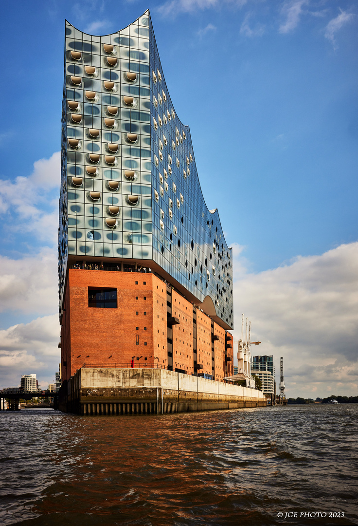
[{"label": "weathered concrete quay wall with dark pilings below the brick building", "polygon": [[59,391],[60,411],[88,416],[264,407],[261,391],[165,369],[81,368]]}]

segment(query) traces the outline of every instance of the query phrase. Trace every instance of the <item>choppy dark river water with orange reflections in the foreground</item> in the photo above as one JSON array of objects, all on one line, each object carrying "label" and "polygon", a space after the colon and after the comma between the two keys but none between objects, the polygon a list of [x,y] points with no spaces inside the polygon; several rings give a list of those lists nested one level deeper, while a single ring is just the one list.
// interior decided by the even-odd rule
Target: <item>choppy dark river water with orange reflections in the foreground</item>
[{"label": "choppy dark river water with orange reflections in the foreground", "polygon": [[0,524],[358,524],[357,430],[358,404],[1,412]]}]

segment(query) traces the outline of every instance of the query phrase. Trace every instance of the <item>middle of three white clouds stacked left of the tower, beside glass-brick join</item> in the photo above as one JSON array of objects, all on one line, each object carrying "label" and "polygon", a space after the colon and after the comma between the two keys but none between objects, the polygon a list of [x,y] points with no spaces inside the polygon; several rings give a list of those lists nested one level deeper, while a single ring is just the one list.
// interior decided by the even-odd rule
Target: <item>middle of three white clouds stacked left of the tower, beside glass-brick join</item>
[{"label": "middle of three white clouds stacked left of the tower, beside glass-brick join", "polygon": [[57,281],[57,252],[53,249],[17,260],[0,256],[0,312],[56,312]]}]

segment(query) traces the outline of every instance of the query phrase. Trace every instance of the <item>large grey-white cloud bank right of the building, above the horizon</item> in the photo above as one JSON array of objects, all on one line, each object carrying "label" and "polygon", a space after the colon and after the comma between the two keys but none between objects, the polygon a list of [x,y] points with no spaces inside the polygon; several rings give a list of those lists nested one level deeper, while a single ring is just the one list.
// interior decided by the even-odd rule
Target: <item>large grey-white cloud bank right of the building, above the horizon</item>
[{"label": "large grey-white cloud bank right of the building, above the horizon", "polygon": [[[284,358],[287,395],[355,395],[358,389],[358,242],[234,282],[236,339],[252,320],[252,352]],[[242,265],[241,252],[235,265]],[[234,266],[235,268],[235,266]],[[278,377],[278,374],[277,374]]]}]

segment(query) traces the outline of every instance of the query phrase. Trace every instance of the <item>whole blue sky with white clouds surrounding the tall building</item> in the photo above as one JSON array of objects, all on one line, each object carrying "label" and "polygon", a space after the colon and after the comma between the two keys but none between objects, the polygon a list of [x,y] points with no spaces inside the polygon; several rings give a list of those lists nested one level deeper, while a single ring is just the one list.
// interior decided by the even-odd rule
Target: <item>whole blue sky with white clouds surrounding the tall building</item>
[{"label": "whole blue sky with white clouds surrounding the tall building", "polygon": [[356,394],[358,8],[346,0],[6,4],[1,386],[28,372],[45,385],[58,364],[64,20],[106,34],[148,7],[204,197],[236,254],[234,336],[245,311],[254,351],[284,356],[290,396]]}]

